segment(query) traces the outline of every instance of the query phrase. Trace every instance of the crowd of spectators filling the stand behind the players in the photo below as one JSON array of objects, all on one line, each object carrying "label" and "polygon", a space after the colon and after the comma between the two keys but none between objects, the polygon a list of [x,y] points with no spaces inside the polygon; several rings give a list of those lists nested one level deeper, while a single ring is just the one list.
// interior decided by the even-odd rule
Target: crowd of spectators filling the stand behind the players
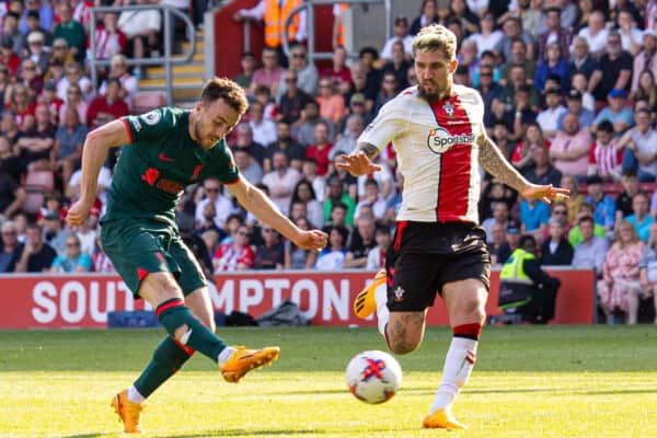
[{"label": "crowd of spectators filling the stand behind the players", "polygon": [[[59,21],[70,20],[71,5],[59,9]],[[326,66],[309,59],[301,43],[291,45],[287,59],[275,48],[265,48],[261,59],[244,53],[234,80],[251,106],[228,138],[235,163],[300,227],[324,229],[330,244],[320,254],[295,247],[216,180],[184,193],[176,211],[181,230],[203,242],[197,246],[208,273],[383,266],[403,196],[394,149],[381,151],[381,172],[358,178],[334,160],[354,150],[382,105],[417,83],[410,42],[423,25],[440,23],[459,41],[454,81],[481,92],[485,126],[503,153],[529,181],[572,191],[568,200],[548,206],[520,198],[482,170],[480,217],[493,264],[503,264],[520,235],[531,234],[543,264],[595,268],[608,320],[634,323],[657,285],[656,12],[655,0],[425,0],[414,20],[394,19],[393,36],[380,47],[350,56],[336,44]],[[116,20],[104,21],[115,32]],[[84,22],[78,23],[83,31]],[[84,132],[130,111],[134,77],[114,55],[96,94],[80,62],[84,43],[61,35],[57,25],[38,26],[54,32],[22,33],[24,43],[12,38],[11,47],[4,36],[22,31],[3,26],[0,272],[111,269],[96,239],[111,166],[101,175],[96,215],[83,230],[62,228],[61,209],[74,197],[71,182],[79,184]],[[54,37],[49,60],[30,51],[30,41],[39,39],[34,32]],[[25,44],[30,48],[21,51]],[[125,101],[127,108],[107,111],[107,101]],[[61,195],[27,215],[20,177],[43,169],[56,172]],[[44,247],[58,254],[55,263],[46,263],[55,255]]]}]

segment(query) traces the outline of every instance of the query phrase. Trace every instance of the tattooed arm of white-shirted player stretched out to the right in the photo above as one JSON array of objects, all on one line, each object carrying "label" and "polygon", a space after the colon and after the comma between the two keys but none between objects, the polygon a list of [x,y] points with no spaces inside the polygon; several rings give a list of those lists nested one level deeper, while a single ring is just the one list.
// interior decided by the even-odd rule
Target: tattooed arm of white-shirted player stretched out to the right
[{"label": "tattooed arm of white-shirted player stretched out to the right", "polygon": [[487,135],[482,135],[477,138],[480,146],[479,162],[493,176],[498,177],[504,184],[515,188],[528,199],[540,199],[546,204],[557,199],[568,197],[567,188],[553,187],[552,185],[538,185],[527,181],[512,165],[509,163],[497,145],[488,138]]}]

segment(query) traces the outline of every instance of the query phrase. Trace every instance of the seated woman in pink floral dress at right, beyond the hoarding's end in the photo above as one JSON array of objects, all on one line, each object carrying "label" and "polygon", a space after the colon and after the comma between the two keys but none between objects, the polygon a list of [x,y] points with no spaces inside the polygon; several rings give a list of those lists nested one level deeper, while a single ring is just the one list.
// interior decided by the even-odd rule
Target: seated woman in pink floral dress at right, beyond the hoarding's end
[{"label": "seated woman in pink floral dress at right, beyond the hoarding's end", "polygon": [[622,221],[614,235],[614,242],[604,257],[602,279],[598,281],[600,306],[607,316],[607,322],[615,322],[616,312],[626,314],[627,323],[636,323],[636,310],[627,314],[627,297],[638,293],[641,281],[638,262],[644,244],[638,240],[631,223]]}]

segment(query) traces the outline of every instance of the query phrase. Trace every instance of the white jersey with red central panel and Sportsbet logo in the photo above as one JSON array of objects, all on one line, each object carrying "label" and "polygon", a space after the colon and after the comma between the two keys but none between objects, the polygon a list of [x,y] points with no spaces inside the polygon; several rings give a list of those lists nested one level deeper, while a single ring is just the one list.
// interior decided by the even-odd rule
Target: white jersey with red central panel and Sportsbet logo
[{"label": "white jersey with red central panel and Sportsbet logo", "polygon": [[427,102],[417,87],[383,105],[358,138],[379,150],[392,141],[404,176],[397,220],[479,223],[479,146],[484,104],[474,89],[452,85],[448,99]]}]

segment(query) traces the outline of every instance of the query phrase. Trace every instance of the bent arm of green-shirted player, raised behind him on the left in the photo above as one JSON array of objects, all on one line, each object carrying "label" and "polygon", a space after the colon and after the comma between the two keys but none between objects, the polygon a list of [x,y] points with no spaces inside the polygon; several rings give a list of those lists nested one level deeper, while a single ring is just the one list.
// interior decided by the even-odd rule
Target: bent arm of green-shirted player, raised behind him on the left
[{"label": "bent arm of green-shirted player, raised behind him on the left", "polygon": [[110,148],[130,142],[128,128],[123,120],[110,122],[89,132],[82,147],[82,181],[80,199],[73,204],[67,215],[71,227],[80,227],[87,220],[97,192],[99,173]]}]

